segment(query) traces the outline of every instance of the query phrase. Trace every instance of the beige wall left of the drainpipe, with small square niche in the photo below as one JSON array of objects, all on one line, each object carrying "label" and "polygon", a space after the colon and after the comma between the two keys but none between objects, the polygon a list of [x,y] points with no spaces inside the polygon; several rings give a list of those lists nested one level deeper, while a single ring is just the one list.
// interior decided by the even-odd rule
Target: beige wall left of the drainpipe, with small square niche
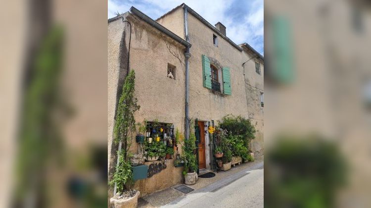
[{"label": "beige wall left of the drainpipe, with small square niche", "polygon": [[[185,109],[185,65],[184,46],[163,35],[138,17],[124,14],[125,20],[132,25],[131,40],[130,27],[122,22],[122,18],[108,24],[108,149],[109,149],[109,178],[116,164],[113,156],[117,145],[112,143],[114,114],[116,108],[116,94],[121,80],[120,73],[126,75],[126,69],[120,67],[120,43],[122,34],[124,44],[121,44],[121,53],[129,49],[130,41],[130,70],[135,70],[135,97],[140,105],[135,113],[137,122],[144,119],[159,122],[173,123],[175,128],[183,132],[184,109]],[[123,31],[125,31],[123,33]],[[127,63],[125,61],[125,63]],[[167,77],[168,63],[176,66],[175,79]],[[121,87],[122,88],[122,85]],[[179,151],[181,148],[179,148]],[[138,152],[138,144],[135,142],[135,133],[130,152]],[[111,156],[112,155],[112,156]],[[159,162],[159,161],[157,161]],[[146,162],[147,164],[147,162]],[[168,160],[167,168],[151,178],[139,180],[135,183],[135,189],[140,191],[140,196],[151,192],[166,189],[182,182],[183,168],[175,168],[173,160]],[[109,193],[112,194],[112,193]]]}]

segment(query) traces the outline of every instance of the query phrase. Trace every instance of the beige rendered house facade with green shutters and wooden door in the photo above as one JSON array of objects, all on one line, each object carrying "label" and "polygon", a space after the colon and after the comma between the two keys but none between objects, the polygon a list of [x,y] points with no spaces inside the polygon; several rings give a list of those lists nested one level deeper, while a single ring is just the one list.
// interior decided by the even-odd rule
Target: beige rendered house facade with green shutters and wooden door
[{"label": "beige rendered house facade with green shutters and wooden door", "polygon": [[[236,45],[222,23],[212,26],[185,4],[156,21],[132,7],[108,20],[109,175],[115,164],[114,115],[128,67],[136,72],[137,122],[157,119],[187,137],[186,115],[197,119],[202,130],[227,114],[242,115],[257,129],[250,149],[263,154],[263,56],[246,43]],[[168,77],[170,71],[173,78]],[[202,137],[199,167],[210,169],[207,131]],[[132,150],[137,151],[135,142]],[[182,182],[181,169],[169,163],[167,169],[135,186],[141,196],[165,189]]]}]

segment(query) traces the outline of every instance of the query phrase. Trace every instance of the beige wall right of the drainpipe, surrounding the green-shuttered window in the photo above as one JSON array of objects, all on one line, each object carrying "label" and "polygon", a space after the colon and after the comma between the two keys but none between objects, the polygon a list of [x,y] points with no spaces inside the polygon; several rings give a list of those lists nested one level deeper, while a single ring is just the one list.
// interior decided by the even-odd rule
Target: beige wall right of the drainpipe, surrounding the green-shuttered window
[{"label": "beige wall right of the drainpipe, surrounding the green-shuttered window", "polygon": [[[226,40],[193,15],[188,15],[190,49],[190,114],[200,120],[219,120],[226,114],[242,115],[251,119],[257,133],[250,148],[258,155],[263,154],[263,109],[259,92],[264,92],[264,63],[261,62],[261,75],[255,72],[255,56],[251,52],[238,51]],[[227,28],[228,30],[228,28]],[[218,37],[218,47],[213,45],[213,34]],[[232,95],[219,95],[210,92],[202,84],[202,58],[207,55],[217,65],[230,67]],[[245,70],[242,63],[246,62]]]}]

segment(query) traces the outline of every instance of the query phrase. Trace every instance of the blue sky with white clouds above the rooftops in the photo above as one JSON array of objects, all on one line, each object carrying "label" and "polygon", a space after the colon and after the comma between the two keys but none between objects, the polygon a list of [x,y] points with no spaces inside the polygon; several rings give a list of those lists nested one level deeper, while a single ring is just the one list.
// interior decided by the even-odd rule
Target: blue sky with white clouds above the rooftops
[{"label": "blue sky with white clouds above the rooftops", "polygon": [[108,18],[134,6],[157,19],[183,2],[212,25],[223,23],[227,27],[227,36],[234,43],[246,42],[264,55],[263,0],[108,0]]}]

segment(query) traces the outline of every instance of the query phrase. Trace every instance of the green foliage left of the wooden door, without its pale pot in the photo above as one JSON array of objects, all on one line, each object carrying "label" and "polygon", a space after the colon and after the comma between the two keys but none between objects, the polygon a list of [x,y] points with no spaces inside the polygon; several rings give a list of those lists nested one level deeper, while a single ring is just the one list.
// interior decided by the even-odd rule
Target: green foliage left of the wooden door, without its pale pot
[{"label": "green foliage left of the wooden door, without its pale pot", "polygon": [[184,140],[183,159],[185,160],[183,175],[197,170],[197,160],[194,151],[196,150],[196,136],[189,135],[189,139]]}]

